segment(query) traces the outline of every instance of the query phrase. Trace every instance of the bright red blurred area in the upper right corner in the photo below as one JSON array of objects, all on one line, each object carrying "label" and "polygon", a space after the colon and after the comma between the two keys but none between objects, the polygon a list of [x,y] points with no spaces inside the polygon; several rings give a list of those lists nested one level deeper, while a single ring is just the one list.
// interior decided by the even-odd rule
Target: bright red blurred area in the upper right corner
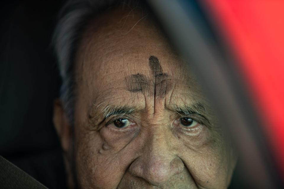
[{"label": "bright red blurred area in the upper right corner", "polygon": [[202,1],[240,60],[245,84],[284,173],[284,1]]}]

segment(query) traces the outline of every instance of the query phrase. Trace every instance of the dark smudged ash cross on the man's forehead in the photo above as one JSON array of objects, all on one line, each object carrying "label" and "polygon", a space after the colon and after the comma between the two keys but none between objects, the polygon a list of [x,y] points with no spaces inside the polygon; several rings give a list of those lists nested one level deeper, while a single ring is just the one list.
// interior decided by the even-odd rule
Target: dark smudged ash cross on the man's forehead
[{"label": "dark smudged ash cross on the man's forehead", "polygon": [[170,76],[163,73],[162,66],[156,56],[150,56],[149,67],[151,69],[151,79],[147,80],[145,75],[139,73],[125,77],[127,90],[133,93],[143,93],[147,90],[154,97],[165,95],[172,88]]}]

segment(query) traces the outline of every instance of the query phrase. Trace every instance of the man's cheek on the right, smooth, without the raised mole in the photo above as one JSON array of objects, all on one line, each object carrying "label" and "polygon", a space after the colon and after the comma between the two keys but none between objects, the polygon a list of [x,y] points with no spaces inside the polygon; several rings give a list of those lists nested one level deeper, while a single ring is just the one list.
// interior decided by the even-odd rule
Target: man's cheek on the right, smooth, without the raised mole
[{"label": "man's cheek on the right, smooth, without the raised mole", "polygon": [[196,135],[178,133],[180,157],[196,183],[209,188],[226,188],[230,149],[218,133],[202,128]]}]

